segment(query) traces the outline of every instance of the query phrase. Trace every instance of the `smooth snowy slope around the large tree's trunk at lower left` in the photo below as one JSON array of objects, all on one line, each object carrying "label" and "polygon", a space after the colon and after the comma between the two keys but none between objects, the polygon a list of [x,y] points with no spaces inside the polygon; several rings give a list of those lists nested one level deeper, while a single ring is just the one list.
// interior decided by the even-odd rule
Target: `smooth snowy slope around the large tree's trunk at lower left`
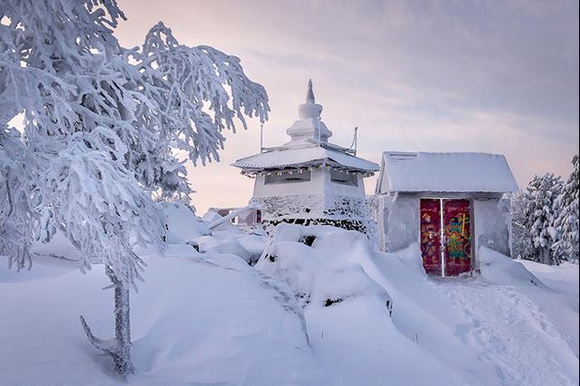
[{"label": "smooth snowy slope around the large tree's trunk at lower left", "polygon": [[[132,384],[316,383],[319,371],[296,300],[242,259],[191,247],[146,259],[131,303]],[[101,268],[87,276],[38,262],[29,281],[0,266],[0,384],[116,384],[110,360],[83,336],[79,315],[109,336],[112,294]]]}]

